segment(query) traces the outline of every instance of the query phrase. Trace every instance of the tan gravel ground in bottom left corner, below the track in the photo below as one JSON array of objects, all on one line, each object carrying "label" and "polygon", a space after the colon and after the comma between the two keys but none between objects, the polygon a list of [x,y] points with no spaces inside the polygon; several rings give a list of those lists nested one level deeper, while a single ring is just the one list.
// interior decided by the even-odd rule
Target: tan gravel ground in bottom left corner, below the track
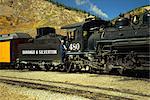
[{"label": "tan gravel ground in bottom left corner, below the track", "polygon": [[0,83],[0,100],[88,100],[83,97]]}]

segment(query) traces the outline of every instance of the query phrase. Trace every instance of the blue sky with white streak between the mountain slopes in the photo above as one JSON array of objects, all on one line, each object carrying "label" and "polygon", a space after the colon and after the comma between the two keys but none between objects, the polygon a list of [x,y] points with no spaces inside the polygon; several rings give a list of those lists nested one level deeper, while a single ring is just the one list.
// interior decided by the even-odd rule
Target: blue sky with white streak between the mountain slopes
[{"label": "blue sky with white streak between the mountain slopes", "polygon": [[85,10],[102,19],[111,20],[120,13],[149,5],[150,0],[54,0],[66,6]]}]

